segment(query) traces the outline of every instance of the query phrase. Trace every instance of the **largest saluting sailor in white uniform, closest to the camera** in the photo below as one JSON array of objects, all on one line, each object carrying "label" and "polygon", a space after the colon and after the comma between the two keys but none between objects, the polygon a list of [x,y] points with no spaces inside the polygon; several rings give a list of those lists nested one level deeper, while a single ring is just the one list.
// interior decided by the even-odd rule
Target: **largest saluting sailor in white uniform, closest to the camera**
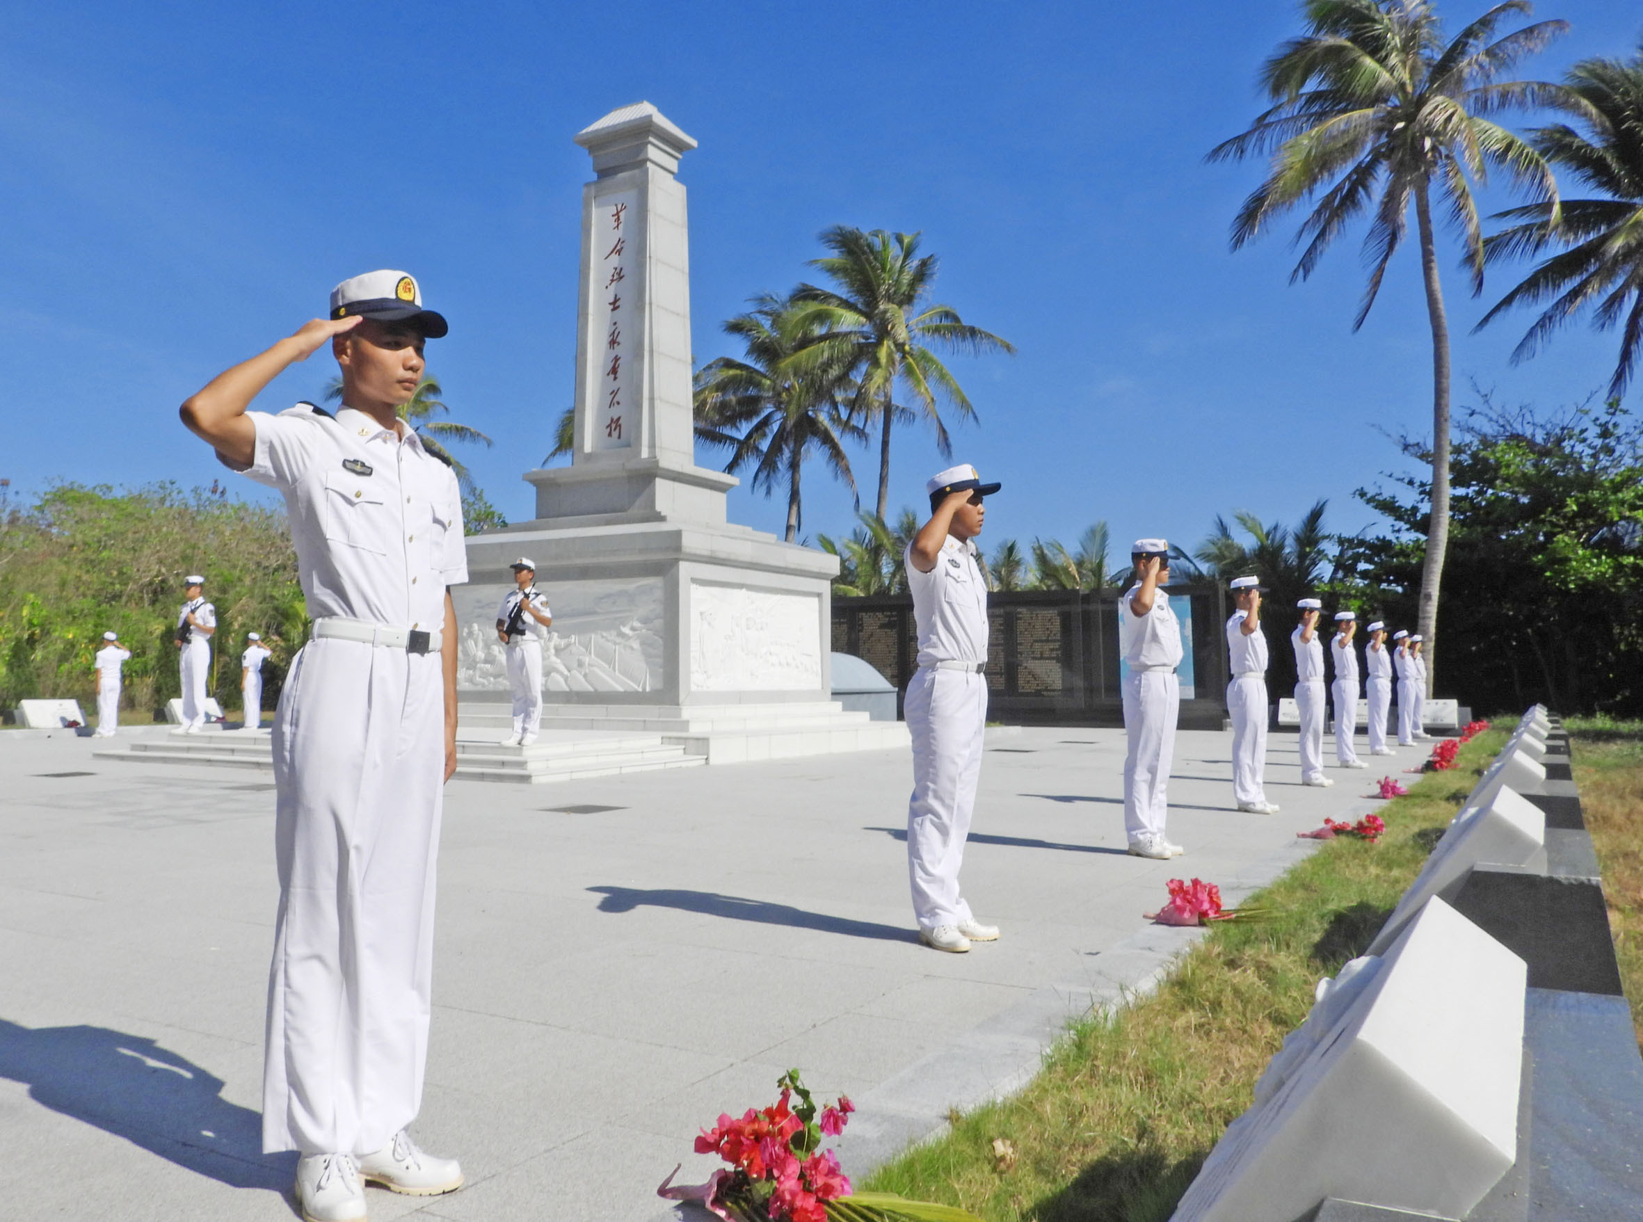
[{"label": "largest saluting sailor in white uniform, closest to the camera", "polygon": [[[462,1186],[417,1150],[442,785],[457,769],[457,616],[467,581],[457,476],[398,407],[445,320],[416,281],[375,271],[330,317],[219,374],[182,420],[233,470],[284,493],[309,642],[274,714],[279,913],[268,989],[263,1148],[297,1150],[311,1222],[365,1217],[361,1181],[430,1196]],[[251,399],[330,345],[335,419]]]}]

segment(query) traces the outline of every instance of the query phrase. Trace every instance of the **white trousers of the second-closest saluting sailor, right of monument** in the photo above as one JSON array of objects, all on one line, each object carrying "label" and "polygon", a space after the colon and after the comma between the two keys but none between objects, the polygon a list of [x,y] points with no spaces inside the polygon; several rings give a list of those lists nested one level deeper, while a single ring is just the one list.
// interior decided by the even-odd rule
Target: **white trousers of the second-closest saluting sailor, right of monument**
[{"label": "white trousers of the second-closest saluting sailor, right of monument", "polygon": [[907,879],[914,916],[925,930],[969,920],[958,889],[964,838],[976,808],[987,729],[987,678],[920,667],[902,705],[914,739],[914,793],[907,803]]}]

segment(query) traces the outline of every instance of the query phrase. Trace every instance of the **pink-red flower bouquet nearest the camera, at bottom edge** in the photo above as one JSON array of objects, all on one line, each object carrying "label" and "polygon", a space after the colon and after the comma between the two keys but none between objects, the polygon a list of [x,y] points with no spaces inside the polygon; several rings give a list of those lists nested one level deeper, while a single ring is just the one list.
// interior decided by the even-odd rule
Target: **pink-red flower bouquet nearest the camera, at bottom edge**
[{"label": "pink-red flower bouquet nearest the camera, at bottom edge", "polygon": [[951,1206],[854,1192],[833,1151],[820,1148],[823,1137],[845,1132],[856,1110],[849,1096],[818,1109],[797,1069],[775,1086],[782,1092],[775,1104],[749,1107],[739,1119],[721,1114],[697,1138],[697,1153],[718,1155],[728,1171],[715,1171],[705,1184],[674,1186],[675,1166],[656,1194],[700,1201],[726,1222],[979,1222]]}]

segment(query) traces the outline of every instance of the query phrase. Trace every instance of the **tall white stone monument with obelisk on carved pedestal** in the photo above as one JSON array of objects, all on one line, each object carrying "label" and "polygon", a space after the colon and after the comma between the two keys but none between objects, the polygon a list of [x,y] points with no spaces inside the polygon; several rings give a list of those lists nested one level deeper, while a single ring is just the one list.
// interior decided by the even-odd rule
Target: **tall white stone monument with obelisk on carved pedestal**
[{"label": "tall white stone monument with obelisk on carved pedestal", "polygon": [[[536,519],[468,539],[458,688],[508,700],[496,608],[536,560],[554,613],[542,728],[711,736],[710,762],[907,741],[830,698],[838,558],[731,526],[734,476],[695,465],[690,255],[675,171],[697,141],[649,102],[577,135],[582,192],[572,463],[532,470]],[[498,721],[496,724],[506,724]]]}]

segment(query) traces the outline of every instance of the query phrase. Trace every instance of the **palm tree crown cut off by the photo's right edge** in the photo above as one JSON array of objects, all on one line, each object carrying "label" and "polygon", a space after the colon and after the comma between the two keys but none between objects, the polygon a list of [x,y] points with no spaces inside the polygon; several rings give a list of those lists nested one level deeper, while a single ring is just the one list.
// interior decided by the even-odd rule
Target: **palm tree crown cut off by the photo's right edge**
[{"label": "palm tree crown cut off by the photo's right edge", "polygon": [[1477,325],[1512,306],[1554,297],[1512,353],[1516,363],[1587,306],[1597,306],[1597,330],[1625,315],[1620,358],[1608,379],[1608,394],[1618,399],[1643,356],[1643,44],[1630,62],[1582,59],[1569,69],[1564,89],[1558,105],[1577,115],[1585,131],[1556,123],[1536,128],[1530,140],[1551,164],[1608,199],[1566,199],[1561,215],[1544,204],[1497,214],[1495,220],[1523,223],[1490,237],[1485,260],[1538,255],[1554,241],[1566,250],[1535,268]]}]

